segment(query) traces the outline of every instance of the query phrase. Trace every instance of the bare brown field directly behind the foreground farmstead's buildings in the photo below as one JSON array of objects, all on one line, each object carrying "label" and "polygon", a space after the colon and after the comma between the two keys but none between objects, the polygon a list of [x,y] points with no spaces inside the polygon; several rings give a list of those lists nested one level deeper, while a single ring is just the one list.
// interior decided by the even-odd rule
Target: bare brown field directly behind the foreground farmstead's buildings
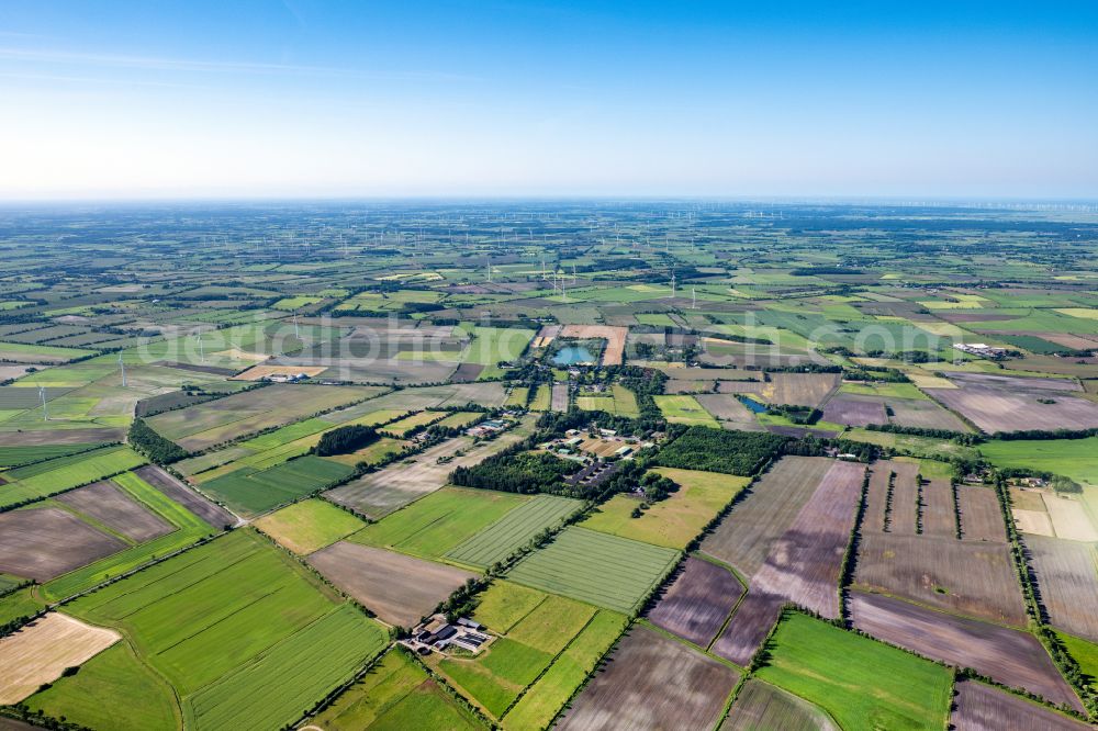
[{"label": "bare brown field directly behind the foreground farmstead's buildings", "polygon": [[440,563],[339,541],[309,563],[390,625],[413,627],[475,574]]}]

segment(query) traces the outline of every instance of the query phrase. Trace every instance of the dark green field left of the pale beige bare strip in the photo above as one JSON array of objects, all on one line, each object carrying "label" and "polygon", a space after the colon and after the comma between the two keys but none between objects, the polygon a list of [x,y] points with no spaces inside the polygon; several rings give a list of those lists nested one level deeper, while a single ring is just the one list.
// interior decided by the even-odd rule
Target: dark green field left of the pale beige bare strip
[{"label": "dark green field left of the pale beige bare strip", "polygon": [[254,516],[323,490],[354,473],[354,468],[311,454],[266,470],[240,468],[202,483],[237,513]]}]

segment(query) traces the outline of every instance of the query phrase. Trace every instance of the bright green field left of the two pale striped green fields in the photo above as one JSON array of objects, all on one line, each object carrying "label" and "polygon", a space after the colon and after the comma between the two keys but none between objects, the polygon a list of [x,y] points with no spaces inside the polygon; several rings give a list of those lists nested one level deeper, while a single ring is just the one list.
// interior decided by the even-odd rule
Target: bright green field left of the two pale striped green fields
[{"label": "bright green field left of the two pale striped green fields", "polygon": [[367,526],[348,540],[423,559],[442,559],[529,499],[509,493],[444,487]]}]

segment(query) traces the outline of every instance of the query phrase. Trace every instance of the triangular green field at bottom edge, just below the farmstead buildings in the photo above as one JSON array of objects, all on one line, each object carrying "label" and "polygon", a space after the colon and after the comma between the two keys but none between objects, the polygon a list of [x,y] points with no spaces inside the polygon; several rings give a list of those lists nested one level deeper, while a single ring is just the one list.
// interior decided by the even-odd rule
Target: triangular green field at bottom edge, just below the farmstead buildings
[{"label": "triangular green field at bottom edge, just below the farmstead buildings", "polygon": [[312,720],[325,731],[485,728],[396,648]]}]

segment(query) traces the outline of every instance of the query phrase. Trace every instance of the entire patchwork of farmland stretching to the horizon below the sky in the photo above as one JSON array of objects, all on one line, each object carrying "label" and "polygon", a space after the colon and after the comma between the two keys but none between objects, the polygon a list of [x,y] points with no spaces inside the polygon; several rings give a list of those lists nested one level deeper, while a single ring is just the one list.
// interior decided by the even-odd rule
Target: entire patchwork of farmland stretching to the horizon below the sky
[{"label": "entire patchwork of farmland stretching to the horizon below the sky", "polygon": [[0,728],[1089,728],[1093,216],[749,207],[0,214]]}]

